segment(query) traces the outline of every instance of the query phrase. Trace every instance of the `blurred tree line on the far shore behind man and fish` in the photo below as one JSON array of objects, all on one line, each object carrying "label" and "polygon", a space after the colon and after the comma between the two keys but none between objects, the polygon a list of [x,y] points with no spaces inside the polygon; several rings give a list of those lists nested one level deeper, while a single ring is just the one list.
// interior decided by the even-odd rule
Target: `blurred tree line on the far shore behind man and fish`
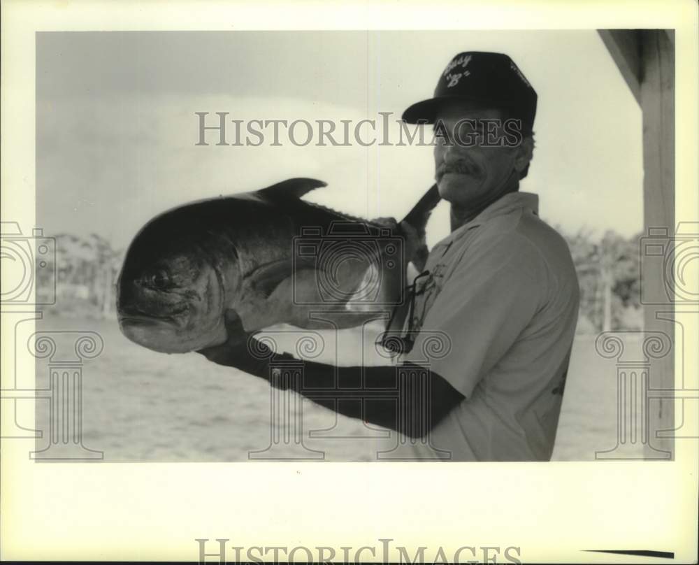
[{"label": "blurred tree line on the far shore behind man and fish", "polygon": [[[563,233],[561,229],[558,229]],[[579,333],[610,329],[642,329],[640,307],[640,235],[624,238],[607,231],[564,235],[580,285]],[[97,234],[55,236],[55,271],[38,270],[37,292],[54,284],[56,303],[51,313],[78,317],[115,317],[117,275],[124,250],[115,250]]]}]

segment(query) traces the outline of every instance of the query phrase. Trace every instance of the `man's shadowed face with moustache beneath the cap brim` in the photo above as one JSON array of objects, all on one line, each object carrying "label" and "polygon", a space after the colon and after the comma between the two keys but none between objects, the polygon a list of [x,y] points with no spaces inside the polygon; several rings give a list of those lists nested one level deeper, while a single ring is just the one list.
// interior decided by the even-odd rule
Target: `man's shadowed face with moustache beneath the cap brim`
[{"label": "man's shadowed face with moustache beneath the cap brim", "polygon": [[[505,126],[502,113],[494,108],[460,102],[440,111],[434,124],[434,157],[442,199],[476,207],[504,189],[512,180],[511,174],[519,178],[517,171],[513,173],[517,147],[493,143],[496,138],[503,139],[506,129],[514,129],[512,123],[510,126]],[[515,139],[514,135],[508,137],[510,142]]]}]

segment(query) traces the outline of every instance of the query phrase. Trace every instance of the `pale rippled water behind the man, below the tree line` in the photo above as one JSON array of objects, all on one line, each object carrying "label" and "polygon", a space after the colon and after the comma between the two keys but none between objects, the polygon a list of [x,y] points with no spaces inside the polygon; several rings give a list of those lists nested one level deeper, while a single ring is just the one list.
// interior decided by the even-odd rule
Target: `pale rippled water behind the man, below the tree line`
[{"label": "pale rippled water behind the man, below the tree line", "polygon": [[[96,331],[103,352],[87,359],[82,377],[82,441],[111,462],[236,462],[250,452],[264,458],[271,443],[271,387],[259,378],[208,362],[196,353],[164,355],[129,342],[115,320],[48,316],[38,330]],[[317,361],[337,355],[356,363],[359,334],[341,332],[338,349],[326,338]],[[372,363],[382,359],[374,358]],[[617,438],[616,367],[594,350],[593,336],[577,336],[563,398],[553,459],[591,460]],[[48,387],[48,364],[36,363],[36,386]],[[368,462],[396,442],[396,434],[337,416],[290,394],[303,411],[303,448],[310,459]],[[37,401],[36,427],[48,430],[49,404]],[[309,431],[313,430],[311,436]],[[318,432],[319,430],[326,430]],[[282,429],[282,433],[284,429]],[[324,437],[318,437],[324,436]],[[36,441],[48,445],[48,434]],[[639,445],[639,453],[642,448]],[[324,455],[323,455],[324,454]],[[252,457],[260,457],[253,455]]]}]

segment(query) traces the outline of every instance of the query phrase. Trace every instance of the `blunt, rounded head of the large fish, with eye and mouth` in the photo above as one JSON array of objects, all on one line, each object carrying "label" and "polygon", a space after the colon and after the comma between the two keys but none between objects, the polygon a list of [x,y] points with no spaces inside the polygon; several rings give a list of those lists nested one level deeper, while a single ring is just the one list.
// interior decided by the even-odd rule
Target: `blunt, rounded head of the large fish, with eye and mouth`
[{"label": "blunt, rounded head of the large fish, with eye and mouth", "polygon": [[142,233],[119,275],[117,316],[124,336],[154,351],[185,353],[222,343],[220,270],[192,237]]}]

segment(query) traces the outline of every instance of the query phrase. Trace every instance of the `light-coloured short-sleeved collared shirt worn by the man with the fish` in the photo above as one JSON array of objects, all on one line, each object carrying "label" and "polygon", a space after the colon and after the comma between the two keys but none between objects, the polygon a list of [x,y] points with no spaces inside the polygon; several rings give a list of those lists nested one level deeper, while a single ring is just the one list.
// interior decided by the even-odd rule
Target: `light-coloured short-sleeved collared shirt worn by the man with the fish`
[{"label": "light-coloured short-sleeved collared shirt worn by the man with the fish", "polygon": [[425,269],[419,333],[398,361],[428,365],[466,399],[414,441],[415,457],[549,460],[579,287],[568,245],[538,217],[538,196],[506,194],[435,245]]}]

